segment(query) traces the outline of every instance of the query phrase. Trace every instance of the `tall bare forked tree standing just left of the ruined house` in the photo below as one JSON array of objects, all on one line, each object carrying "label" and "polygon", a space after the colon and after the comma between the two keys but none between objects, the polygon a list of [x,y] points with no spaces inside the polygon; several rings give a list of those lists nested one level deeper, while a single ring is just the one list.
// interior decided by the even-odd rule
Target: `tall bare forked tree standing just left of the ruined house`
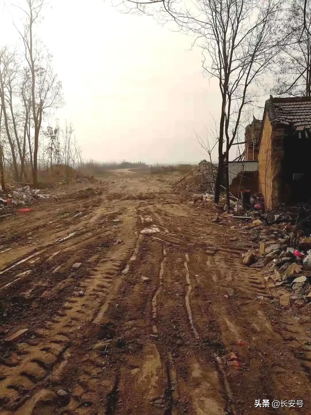
[{"label": "tall bare forked tree standing just left of the ruined house", "polygon": [[173,20],[181,30],[192,31],[202,47],[204,70],[219,82],[221,106],[216,203],[225,161],[228,162],[229,150],[236,140],[244,107],[254,102],[260,81],[284,44],[278,30],[281,1],[123,1],[126,12],[158,13],[160,19]]}]

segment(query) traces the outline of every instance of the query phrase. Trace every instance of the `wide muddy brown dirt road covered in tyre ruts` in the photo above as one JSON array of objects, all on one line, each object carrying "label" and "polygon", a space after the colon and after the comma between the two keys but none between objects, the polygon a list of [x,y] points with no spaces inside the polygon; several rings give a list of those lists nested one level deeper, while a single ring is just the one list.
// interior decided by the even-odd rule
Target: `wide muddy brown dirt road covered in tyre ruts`
[{"label": "wide muddy brown dirt road covered in tyre ruts", "polygon": [[0,413],[310,414],[310,317],[241,264],[238,224],[165,180],[96,187],[0,225]]}]

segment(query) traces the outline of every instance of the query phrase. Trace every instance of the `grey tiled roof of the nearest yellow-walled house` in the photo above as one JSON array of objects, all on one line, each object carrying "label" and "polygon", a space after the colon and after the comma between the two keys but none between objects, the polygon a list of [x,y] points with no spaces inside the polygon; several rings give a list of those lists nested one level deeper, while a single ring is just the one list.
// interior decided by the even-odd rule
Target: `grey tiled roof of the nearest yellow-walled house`
[{"label": "grey tiled roof of the nearest yellow-walled house", "polygon": [[292,125],[296,130],[311,128],[311,98],[272,98],[266,101],[271,123]]}]

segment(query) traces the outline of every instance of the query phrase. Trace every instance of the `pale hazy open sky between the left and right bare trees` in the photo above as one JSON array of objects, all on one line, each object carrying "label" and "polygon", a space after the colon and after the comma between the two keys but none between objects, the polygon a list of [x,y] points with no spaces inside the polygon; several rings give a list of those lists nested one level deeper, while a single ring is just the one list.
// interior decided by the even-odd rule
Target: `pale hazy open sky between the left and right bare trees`
[{"label": "pale hazy open sky between the left and right bare trees", "polygon": [[[2,2],[2,44],[16,31]],[[22,0],[19,0],[22,2]],[[151,17],[124,15],[109,0],[53,0],[38,27],[63,83],[62,124],[72,122],[84,159],[196,162],[195,141],[219,116],[219,92],[202,74],[190,35]],[[214,159],[217,158],[215,151]]]}]

